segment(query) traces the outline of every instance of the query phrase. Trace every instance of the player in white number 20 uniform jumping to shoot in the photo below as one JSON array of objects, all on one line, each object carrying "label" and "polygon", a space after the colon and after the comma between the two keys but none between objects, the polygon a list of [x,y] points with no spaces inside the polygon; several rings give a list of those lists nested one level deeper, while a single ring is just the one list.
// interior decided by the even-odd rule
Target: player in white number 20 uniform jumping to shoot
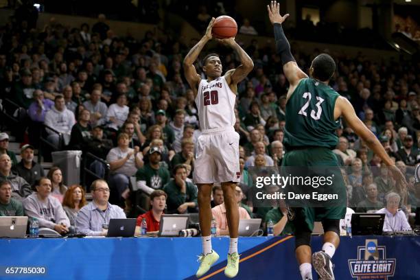
[{"label": "player in white number 20 uniform jumping to shoot", "polygon": [[209,54],[202,60],[202,70],[207,80],[202,80],[196,72],[194,62],[202,48],[213,38],[211,19],[206,34],[184,59],[185,78],[196,97],[198,117],[202,135],[196,143],[196,164],[193,179],[198,185],[198,207],[200,209],[200,229],[202,233],[202,255],[196,276],[204,275],[218,260],[219,255],[211,248],[211,188],[220,182],[223,189],[226,218],[229,226],[230,246],[224,274],[235,277],[239,270],[237,237],[239,210],[235,198],[236,183],[240,180],[239,139],[235,132],[235,100],[237,83],[253,70],[253,60],[235,42],[235,38],[218,39],[220,43],[234,49],[241,65],[227,71],[222,76],[222,62],[218,54]]}]

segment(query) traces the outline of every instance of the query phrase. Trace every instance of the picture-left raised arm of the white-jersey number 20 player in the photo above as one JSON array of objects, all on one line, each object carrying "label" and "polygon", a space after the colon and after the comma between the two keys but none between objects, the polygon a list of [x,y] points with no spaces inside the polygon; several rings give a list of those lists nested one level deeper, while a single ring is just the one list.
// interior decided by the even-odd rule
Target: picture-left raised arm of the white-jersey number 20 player
[{"label": "picture-left raised arm of the white-jersey number 20 player", "polygon": [[202,48],[212,38],[211,29],[213,28],[214,21],[215,19],[212,18],[209,23],[209,26],[207,27],[205,36],[202,36],[201,40],[198,41],[198,43],[194,47],[192,47],[192,49],[189,50],[189,53],[184,58],[184,75],[187,79],[189,86],[194,91],[194,95],[197,95],[198,83],[201,79],[200,75],[198,75],[196,71],[196,67],[194,67],[194,62],[196,62],[196,59],[200,55]]}]

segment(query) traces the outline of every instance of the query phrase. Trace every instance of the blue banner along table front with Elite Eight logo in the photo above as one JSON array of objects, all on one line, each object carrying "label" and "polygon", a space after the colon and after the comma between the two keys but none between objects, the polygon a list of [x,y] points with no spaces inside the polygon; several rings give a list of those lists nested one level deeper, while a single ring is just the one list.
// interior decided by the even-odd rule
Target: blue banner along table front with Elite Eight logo
[{"label": "blue banner along table front with Elite Eight logo", "polygon": [[[322,242],[313,237],[312,248]],[[226,279],[229,238],[212,244],[220,259],[202,279]],[[201,239],[2,239],[0,248],[0,279],[196,279]],[[240,237],[238,248],[235,279],[301,279],[294,237]],[[420,279],[420,237],[342,237],[333,261],[340,280]]]}]

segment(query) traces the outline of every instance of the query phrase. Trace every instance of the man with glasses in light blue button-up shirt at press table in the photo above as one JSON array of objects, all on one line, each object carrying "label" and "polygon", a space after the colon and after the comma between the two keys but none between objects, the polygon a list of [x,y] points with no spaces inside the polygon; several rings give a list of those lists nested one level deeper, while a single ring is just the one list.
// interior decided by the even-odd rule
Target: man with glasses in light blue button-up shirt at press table
[{"label": "man with glasses in light blue button-up shirt at press table", "polygon": [[110,219],[125,219],[126,214],[117,205],[111,205],[109,187],[104,180],[95,180],[91,185],[93,201],[80,209],[75,226],[78,233],[88,236],[106,236]]}]

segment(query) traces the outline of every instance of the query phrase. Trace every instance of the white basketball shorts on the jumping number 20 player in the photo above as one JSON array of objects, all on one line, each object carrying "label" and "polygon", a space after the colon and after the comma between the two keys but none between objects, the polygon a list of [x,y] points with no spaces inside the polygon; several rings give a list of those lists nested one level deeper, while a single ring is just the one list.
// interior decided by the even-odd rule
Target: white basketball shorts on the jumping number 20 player
[{"label": "white basketball shorts on the jumping number 20 player", "polygon": [[196,143],[194,183],[239,182],[239,139],[233,127],[203,130]]}]

